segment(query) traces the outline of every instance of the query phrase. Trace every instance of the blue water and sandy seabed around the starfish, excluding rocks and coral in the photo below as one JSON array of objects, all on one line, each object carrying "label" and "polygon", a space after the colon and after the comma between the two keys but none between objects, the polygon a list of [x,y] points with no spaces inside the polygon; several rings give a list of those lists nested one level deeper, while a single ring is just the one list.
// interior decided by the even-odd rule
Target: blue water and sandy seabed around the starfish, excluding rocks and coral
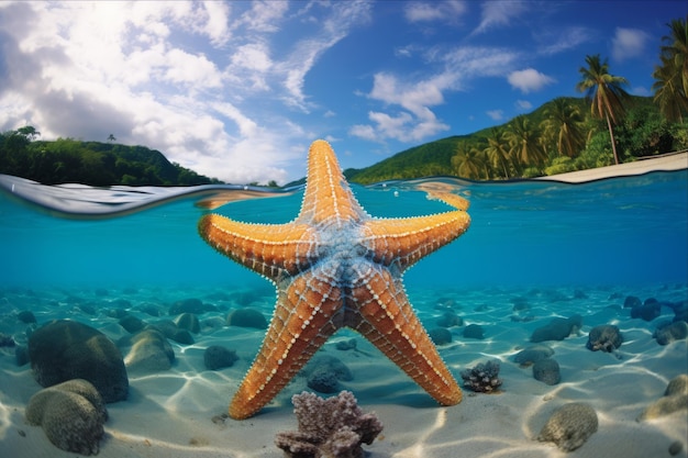
[{"label": "blue water and sandy seabed around the starfish, excluding rocks and coral", "polygon": [[[557,457],[556,446],[536,440],[540,429],[554,407],[586,402],[599,428],[576,456],[686,457],[686,410],[637,418],[669,380],[688,375],[688,340],[659,344],[655,337],[688,301],[688,170],[576,185],[433,177],[352,189],[375,217],[452,210],[428,199],[422,189],[429,183],[468,200],[471,224],[404,275],[407,293],[428,329],[448,329],[448,342],[437,347],[459,384],[462,371],[488,360],[501,365],[503,383],[496,395],[464,388],[460,404],[440,407],[356,333],[335,334],[321,351],[351,369],[352,379],[339,388],[385,425],[364,447],[366,456]],[[269,321],[275,290],[206,244],[197,223],[210,211],[286,223],[297,216],[302,194],[302,188],[236,186],[46,187],[0,176],[0,334],[15,344],[0,348],[0,456],[74,456],[26,423],[26,404],[42,387],[14,353],[32,332],[52,320],[78,321],[118,343],[126,361],[121,342],[132,333],[116,310],[155,324],[175,320],[173,305],[191,298],[210,304],[198,313],[200,331],[192,342],[169,340],[169,368],[130,370],[129,399],[108,404],[100,456],[281,456],[274,437],[297,428],[291,396],[313,390],[300,375],[257,416],[226,417],[265,334],[228,325],[228,315],[251,308]],[[629,297],[656,299],[657,314],[632,315],[624,306]],[[18,320],[25,311],[37,323]],[[463,323],[439,324],[447,312]],[[535,342],[536,328],[573,316],[581,322],[569,335],[544,342],[561,381],[535,380],[515,355]],[[470,324],[484,335],[465,334]],[[623,334],[614,351],[587,348],[599,325]],[[349,339],[357,342],[354,349],[335,348]],[[210,370],[203,360],[211,345],[231,348],[237,361]]]}]

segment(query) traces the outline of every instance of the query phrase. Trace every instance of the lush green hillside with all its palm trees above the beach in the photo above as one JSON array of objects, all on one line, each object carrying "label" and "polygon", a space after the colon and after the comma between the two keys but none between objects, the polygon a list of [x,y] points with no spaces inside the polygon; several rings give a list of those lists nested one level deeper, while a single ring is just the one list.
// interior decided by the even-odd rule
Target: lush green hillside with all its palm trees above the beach
[{"label": "lush green hillside with all its palm trees above the beach", "polygon": [[655,67],[654,98],[632,97],[625,78],[599,55],[586,56],[576,88],[585,99],[558,98],[509,123],[399,153],[360,170],[370,183],[431,175],[509,179],[602,167],[688,148],[688,31],[672,21]]}]

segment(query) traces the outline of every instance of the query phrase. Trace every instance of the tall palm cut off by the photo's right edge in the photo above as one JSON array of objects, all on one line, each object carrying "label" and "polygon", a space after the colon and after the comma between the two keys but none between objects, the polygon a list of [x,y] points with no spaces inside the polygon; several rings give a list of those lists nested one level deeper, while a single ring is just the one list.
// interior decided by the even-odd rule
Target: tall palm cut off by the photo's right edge
[{"label": "tall palm cut off by the photo's right edge", "polygon": [[662,37],[666,44],[661,48],[662,65],[655,66],[652,74],[656,80],[652,89],[662,113],[670,121],[683,122],[683,112],[688,111],[688,29],[680,19],[667,25],[672,34]]}]

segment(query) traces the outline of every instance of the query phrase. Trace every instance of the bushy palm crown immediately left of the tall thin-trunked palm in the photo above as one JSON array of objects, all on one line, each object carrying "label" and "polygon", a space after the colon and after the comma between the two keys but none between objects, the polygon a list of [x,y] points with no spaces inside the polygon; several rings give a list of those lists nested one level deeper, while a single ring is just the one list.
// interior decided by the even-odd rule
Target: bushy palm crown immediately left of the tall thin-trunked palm
[{"label": "bushy palm crown immediately left of the tall thin-trunked palm", "polygon": [[556,138],[556,149],[562,156],[574,157],[582,150],[586,145],[584,120],[577,107],[559,97],[550,103],[544,114],[545,136]]}]

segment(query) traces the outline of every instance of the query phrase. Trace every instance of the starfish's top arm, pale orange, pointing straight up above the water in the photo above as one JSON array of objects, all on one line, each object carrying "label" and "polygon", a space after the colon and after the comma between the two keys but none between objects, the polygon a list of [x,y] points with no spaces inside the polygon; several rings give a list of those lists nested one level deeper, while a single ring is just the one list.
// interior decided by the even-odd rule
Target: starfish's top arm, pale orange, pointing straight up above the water
[{"label": "starfish's top arm, pale orange, pointing straight up above the water", "polygon": [[313,142],[308,156],[308,172],[299,221],[319,224],[345,223],[369,217],[356,201],[344,179],[332,147],[322,139]]}]

